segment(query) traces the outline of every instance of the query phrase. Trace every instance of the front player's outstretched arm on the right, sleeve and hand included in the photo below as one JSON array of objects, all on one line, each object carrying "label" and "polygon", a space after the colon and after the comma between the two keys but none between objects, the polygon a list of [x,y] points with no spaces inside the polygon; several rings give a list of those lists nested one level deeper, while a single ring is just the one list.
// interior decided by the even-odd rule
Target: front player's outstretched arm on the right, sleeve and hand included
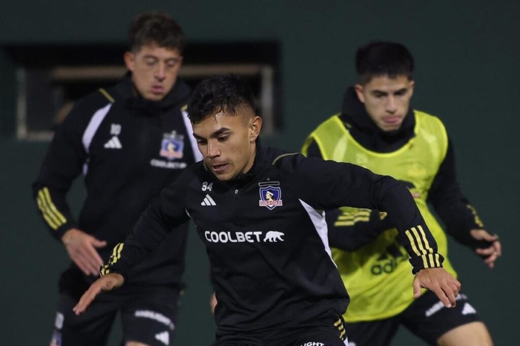
[{"label": "front player's outstretched arm on the right, sleeve and hand included", "polygon": [[302,155],[284,155],[273,164],[285,173],[302,204],[315,211],[349,205],[386,212],[410,256],[414,296],[427,288],[446,307],[456,305],[461,285],[442,268],[444,257],[406,186],[354,164]]}]

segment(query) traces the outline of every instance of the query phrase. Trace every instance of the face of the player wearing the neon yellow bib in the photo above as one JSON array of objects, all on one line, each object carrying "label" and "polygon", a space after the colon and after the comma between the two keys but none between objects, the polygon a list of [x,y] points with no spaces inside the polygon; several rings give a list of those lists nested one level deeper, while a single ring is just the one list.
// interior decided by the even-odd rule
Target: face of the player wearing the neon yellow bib
[{"label": "face of the player wearing the neon yellow bib", "polygon": [[355,90],[372,121],[383,131],[394,131],[408,113],[413,86],[406,75],[384,75],[373,77],[365,85],[357,84]]}]

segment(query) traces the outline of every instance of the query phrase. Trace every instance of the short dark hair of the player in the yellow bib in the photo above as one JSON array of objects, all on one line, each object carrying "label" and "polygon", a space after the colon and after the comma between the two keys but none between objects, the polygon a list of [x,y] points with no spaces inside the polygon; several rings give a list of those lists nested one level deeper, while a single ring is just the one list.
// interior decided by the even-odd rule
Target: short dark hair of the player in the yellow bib
[{"label": "short dark hair of the player in the yellow bib", "polygon": [[356,70],[361,83],[375,76],[395,77],[406,75],[412,79],[413,57],[403,45],[393,42],[373,41],[358,48]]}]

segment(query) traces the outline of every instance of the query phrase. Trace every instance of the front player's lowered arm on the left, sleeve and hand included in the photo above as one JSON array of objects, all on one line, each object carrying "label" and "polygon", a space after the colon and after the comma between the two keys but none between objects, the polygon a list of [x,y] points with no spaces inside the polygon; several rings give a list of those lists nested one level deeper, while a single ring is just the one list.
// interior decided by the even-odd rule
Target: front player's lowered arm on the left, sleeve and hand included
[{"label": "front player's lowered arm on the left, sleeve and hand included", "polygon": [[188,220],[184,201],[192,171],[193,167],[185,170],[172,185],[163,189],[141,214],[124,243],[114,246],[108,263],[101,267],[101,278],[90,285],[74,307],[76,315],[83,313],[99,293],[121,286],[129,271],[159,247],[167,233]]}]

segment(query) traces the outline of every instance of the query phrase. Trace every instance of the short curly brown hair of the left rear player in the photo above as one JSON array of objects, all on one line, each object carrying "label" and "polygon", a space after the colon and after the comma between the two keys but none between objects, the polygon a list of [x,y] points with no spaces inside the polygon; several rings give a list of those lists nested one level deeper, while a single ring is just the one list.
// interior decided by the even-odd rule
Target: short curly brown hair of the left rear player
[{"label": "short curly brown hair of the left rear player", "polygon": [[157,44],[159,47],[184,50],[183,29],[166,12],[145,12],[134,18],[128,29],[130,50],[137,51],[142,46]]}]

